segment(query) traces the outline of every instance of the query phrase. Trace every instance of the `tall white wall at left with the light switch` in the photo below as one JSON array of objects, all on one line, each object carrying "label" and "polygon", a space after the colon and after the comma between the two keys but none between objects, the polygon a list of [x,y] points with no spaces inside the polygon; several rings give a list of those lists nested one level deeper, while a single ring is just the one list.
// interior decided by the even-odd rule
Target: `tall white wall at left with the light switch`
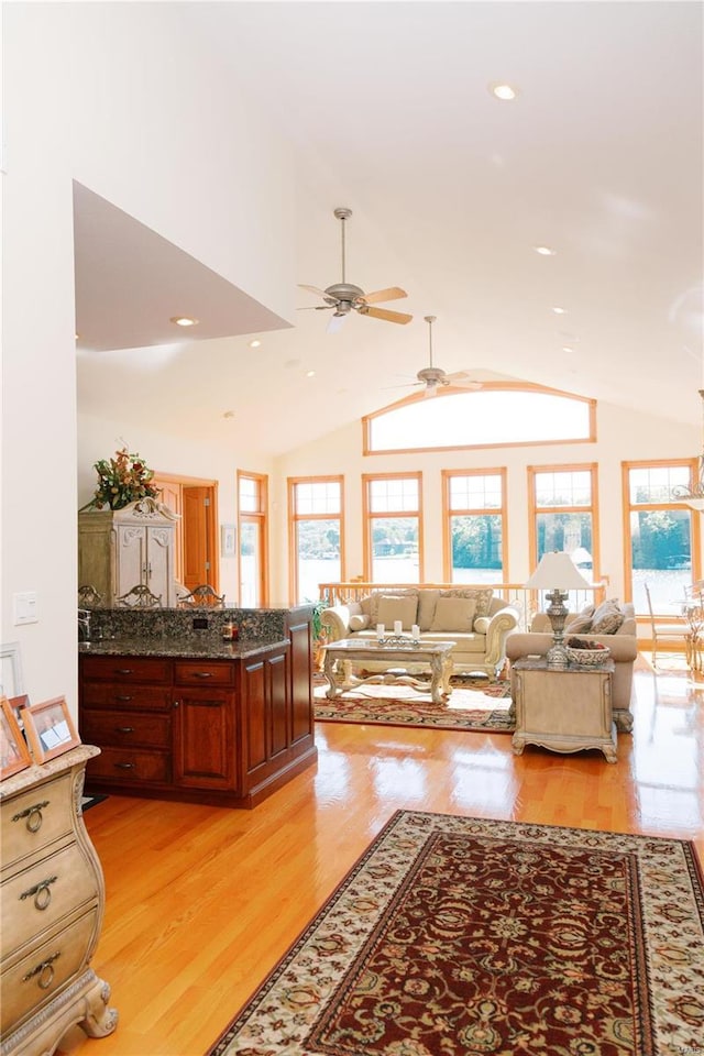
[{"label": "tall white wall at left with the light switch", "polygon": [[[2,18],[1,634],[20,642],[31,700],[64,694],[75,714],[72,180],[284,315],[293,179],[285,147],[184,32],[178,6],[10,3]],[[108,431],[89,465],[112,450]],[[166,470],[150,440],[130,436]],[[215,472],[193,461],[233,480],[234,458]],[[25,591],[40,620],[16,627],[12,597]]]}]

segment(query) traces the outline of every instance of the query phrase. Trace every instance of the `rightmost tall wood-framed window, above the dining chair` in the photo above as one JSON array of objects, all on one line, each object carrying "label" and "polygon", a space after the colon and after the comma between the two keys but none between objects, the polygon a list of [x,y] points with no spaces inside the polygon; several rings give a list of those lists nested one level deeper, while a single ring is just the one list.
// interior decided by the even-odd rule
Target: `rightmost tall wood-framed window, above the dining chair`
[{"label": "rightmost tall wood-framed window, above the dining chair", "polygon": [[644,583],[658,615],[680,616],[684,586],[700,572],[698,514],[672,502],[672,490],[689,485],[694,460],[624,462],[626,590],[636,615],[648,615]]}]

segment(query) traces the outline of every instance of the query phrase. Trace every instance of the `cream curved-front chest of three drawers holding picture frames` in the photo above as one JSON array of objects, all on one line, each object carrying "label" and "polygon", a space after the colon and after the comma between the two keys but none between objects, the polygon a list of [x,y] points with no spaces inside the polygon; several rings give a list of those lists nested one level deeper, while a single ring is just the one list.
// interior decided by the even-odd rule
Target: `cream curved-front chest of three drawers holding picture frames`
[{"label": "cream curved-front chest of three drawers holding picture frames", "polygon": [[102,869],[80,807],[80,745],[0,782],[2,1056],[48,1056],[72,1026],[91,1037],[118,1022],[89,967],[105,910]]}]

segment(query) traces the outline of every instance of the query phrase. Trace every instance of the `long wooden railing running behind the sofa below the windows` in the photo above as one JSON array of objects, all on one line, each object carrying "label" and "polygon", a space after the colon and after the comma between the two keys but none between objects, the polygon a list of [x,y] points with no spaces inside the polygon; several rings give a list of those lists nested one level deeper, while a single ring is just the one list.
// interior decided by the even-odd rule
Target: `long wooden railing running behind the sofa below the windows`
[{"label": "long wooden railing running behind the sofa below the windows", "polygon": [[[431,591],[486,591],[492,590],[497,597],[503,597],[513,605],[520,614],[518,626],[521,630],[530,627],[530,622],[536,613],[546,608],[546,601],[541,596],[542,591],[529,591],[522,583],[365,583],[360,580],[353,580],[350,583],[319,583],[320,598],[328,605],[346,605],[348,602],[360,602],[372,591],[383,593],[384,591],[406,590],[431,590]],[[583,591],[570,591],[570,610],[579,612],[584,605],[598,605],[604,601],[605,587],[598,584],[592,588]]]}]

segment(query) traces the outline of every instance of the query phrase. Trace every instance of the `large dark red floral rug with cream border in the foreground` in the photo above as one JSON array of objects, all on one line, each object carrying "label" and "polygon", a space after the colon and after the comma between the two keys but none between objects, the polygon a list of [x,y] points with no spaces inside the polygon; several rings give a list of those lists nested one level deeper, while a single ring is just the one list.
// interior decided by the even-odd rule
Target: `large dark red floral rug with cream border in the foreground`
[{"label": "large dark red floral rug with cream border in the foreground", "polygon": [[207,1056],[702,1052],[693,845],[399,811]]}]

